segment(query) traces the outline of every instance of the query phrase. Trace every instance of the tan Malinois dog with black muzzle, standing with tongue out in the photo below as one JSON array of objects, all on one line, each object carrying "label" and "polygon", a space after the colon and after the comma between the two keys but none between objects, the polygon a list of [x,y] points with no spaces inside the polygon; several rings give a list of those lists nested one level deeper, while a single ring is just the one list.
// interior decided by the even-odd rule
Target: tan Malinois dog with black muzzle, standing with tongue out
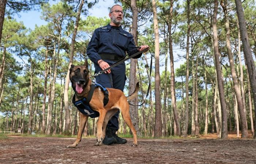
[{"label": "tan Malinois dog with black muzzle, standing with tongue out", "polygon": [[[88,97],[91,80],[89,78],[89,70],[87,60],[84,62],[83,66],[71,65],[69,69],[69,78],[72,84],[72,88],[75,91],[75,100]],[[129,126],[133,134],[133,146],[137,146],[137,134],[136,130],[132,124],[131,117],[129,115],[129,104],[127,100],[132,100],[138,95],[139,83],[136,84],[135,91],[125,97],[121,90],[107,88],[109,92],[109,102],[106,106],[103,105],[104,93],[96,89],[94,90],[93,97],[89,103],[91,109],[99,112],[99,119],[97,122],[97,143],[95,145],[101,145],[103,138],[105,137],[106,125],[109,119],[120,110],[125,123]],[[75,148],[81,141],[84,127],[88,116],[79,112],[80,123],[78,129],[78,135],[76,141],[72,145],[68,145],[67,148]]]}]

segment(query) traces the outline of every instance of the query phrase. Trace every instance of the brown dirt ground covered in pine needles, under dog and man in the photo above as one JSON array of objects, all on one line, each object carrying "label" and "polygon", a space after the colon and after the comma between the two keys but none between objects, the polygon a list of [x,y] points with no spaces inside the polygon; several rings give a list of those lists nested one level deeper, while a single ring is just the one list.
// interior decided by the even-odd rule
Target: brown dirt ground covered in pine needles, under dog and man
[{"label": "brown dirt ground covered in pine needles, under dog and man", "polygon": [[94,146],[95,138],[82,138],[76,148],[66,148],[75,138],[11,136],[0,140],[0,163],[256,163],[256,140],[138,139],[127,144]]}]

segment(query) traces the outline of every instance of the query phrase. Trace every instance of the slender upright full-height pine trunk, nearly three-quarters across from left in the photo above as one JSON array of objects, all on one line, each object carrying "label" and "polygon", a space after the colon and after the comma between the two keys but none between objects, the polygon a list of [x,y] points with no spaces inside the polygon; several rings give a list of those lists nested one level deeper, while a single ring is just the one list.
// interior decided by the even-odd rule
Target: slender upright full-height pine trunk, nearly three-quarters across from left
[{"label": "slender upright full-height pine trunk, nearly three-quarters across from left", "polygon": [[187,31],[187,47],[186,47],[186,113],[185,113],[185,127],[183,131],[183,136],[188,137],[188,108],[189,108],[189,95],[188,95],[188,83],[189,83],[189,35],[190,35],[190,0],[187,0],[187,18],[188,18],[188,31]]}]

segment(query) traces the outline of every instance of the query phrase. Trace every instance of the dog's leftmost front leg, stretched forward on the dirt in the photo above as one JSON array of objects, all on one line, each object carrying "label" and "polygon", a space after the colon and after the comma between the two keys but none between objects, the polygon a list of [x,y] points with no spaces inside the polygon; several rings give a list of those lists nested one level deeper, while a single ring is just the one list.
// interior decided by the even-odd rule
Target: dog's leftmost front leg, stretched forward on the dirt
[{"label": "dog's leftmost front leg, stretched forward on the dirt", "polygon": [[85,116],[84,114],[82,114],[80,112],[79,112],[79,116],[80,116],[80,121],[79,121],[79,129],[78,129],[76,141],[74,142],[74,144],[68,145],[67,148],[75,148],[82,139],[83,130],[84,130],[85,124],[88,120],[88,116]]}]

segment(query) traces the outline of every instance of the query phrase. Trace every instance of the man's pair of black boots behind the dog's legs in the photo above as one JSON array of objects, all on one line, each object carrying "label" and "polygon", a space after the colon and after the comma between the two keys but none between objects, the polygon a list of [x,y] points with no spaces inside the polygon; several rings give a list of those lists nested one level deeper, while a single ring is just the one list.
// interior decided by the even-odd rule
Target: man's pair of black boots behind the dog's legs
[{"label": "man's pair of black boots behind the dog's legs", "polygon": [[127,140],[116,135],[116,130],[106,127],[106,135],[102,143],[105,145],[111,144],[125,144]]}]

